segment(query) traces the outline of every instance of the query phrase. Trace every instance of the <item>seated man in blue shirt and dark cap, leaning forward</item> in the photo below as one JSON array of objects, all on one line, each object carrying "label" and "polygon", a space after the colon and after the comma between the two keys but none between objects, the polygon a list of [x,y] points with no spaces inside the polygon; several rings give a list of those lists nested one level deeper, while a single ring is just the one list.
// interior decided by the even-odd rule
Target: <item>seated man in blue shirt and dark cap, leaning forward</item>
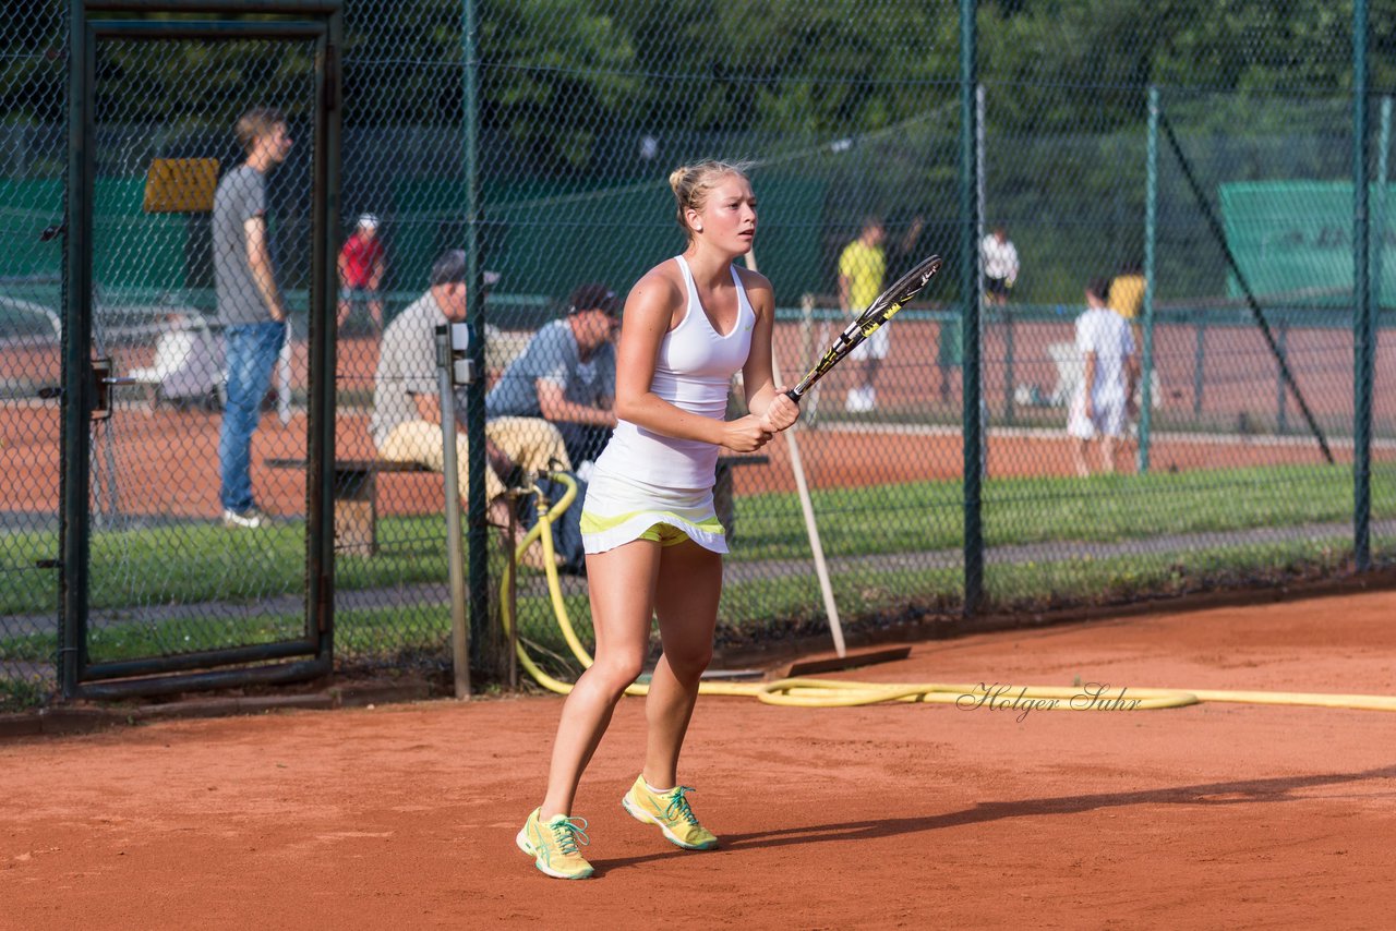
[{"label": "seated man in blue shirt and dark cap, leaning forward", "polygon": [[484,399],[490,417],[543,417],[563,434],[582,479],[616,426],[620,301],[606,285],[572,292],[567,315],[533,335]]}]

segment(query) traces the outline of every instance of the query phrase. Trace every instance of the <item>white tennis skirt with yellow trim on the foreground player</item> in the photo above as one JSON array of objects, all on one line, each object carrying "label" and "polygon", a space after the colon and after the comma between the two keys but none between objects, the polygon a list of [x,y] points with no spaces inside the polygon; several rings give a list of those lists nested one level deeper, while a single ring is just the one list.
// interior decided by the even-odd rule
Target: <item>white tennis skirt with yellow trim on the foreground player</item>
[{"label": "white tennis skirt with yellow trim on the foreground player", "polygon": [[582,547],[604,553],[634,540],[681,543],[727,551],[727,535],[712,502],[712,489],[664,489],[597,465],[582,502]]}]

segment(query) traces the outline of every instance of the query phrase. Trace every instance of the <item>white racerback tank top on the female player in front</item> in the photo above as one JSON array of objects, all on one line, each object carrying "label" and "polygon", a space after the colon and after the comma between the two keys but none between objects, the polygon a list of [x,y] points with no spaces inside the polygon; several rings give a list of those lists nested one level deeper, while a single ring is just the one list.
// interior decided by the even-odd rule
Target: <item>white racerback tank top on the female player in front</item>
[{"label": "white racerback tank top on the female player in front", "polygon": [[[698,286],[683,255],[676,255],[688,289],[684,318],[664,334],[655,362],[651,391],[676,408],[713,420],[727,416],[727,389],[732,377],[747,364],[751,352],[751,328],[757,314],[736,267],[732,281],[737,286],[737,324],[722,335],[712,328],[698,300]],[[701,440],[677,440],[645,430],[628,420],[616,423],[606,451],[596,461],[600,472],[644,482],[664,489],[712,489],[718,465],[718,447]]]}]

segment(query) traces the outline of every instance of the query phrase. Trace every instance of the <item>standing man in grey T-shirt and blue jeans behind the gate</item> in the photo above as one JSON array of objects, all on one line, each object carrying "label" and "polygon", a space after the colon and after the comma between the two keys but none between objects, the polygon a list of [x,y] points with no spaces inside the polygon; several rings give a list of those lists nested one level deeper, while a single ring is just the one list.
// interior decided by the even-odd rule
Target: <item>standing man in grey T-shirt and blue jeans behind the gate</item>
[{"label": "standing man in grey T-shirt and blue jeans behind the gate", "polygon": [[253,431],[286,341],[286,304],[267,232],[267,173],[290,152],[286,119],[265,107],[247,110],[237,120],[237,142],[247,159],[223,174],[214,194],[214,281],[228,362],[219,498],[223,526],[257,528],[265,516],[253,498]]}]

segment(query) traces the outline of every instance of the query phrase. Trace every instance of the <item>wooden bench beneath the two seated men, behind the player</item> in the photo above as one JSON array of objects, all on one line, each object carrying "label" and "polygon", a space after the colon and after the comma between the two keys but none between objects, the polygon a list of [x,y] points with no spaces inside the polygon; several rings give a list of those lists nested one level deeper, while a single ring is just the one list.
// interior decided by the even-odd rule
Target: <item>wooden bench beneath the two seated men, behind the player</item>
[{"label": "wooden bench beneath the two seated men, behind the player", "polygon": [[[771,458],[765,455],[718,456],[712,501],[718,519],[727,530],[727,539],[736,533],[737,522],[732,470],[747,465],[765,465],[769,461]],[[306,461],[267,459],[267,466],[271,469],[304,469]],[[394,462],[391,459],[336,459],[334,469],[335,549],[350,556],[374,556],[378,551],[377,476],[383,472],[431,472],[417,462]]]}]

